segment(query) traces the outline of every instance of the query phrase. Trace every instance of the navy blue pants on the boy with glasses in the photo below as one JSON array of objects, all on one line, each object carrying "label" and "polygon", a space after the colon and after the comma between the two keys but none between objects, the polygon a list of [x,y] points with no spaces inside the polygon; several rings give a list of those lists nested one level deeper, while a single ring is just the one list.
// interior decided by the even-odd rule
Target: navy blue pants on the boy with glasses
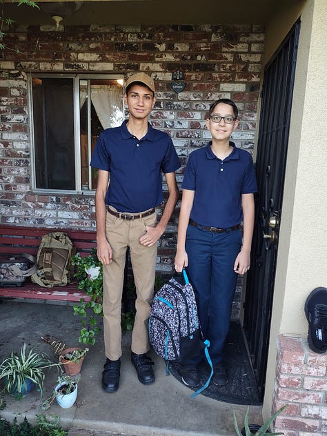
[{"label": "navy blue pants on the boy with glasses", "polygon": [[[204,339],[210,341],[212,364],[223,357],[237,282],[234,263],[241,241],[240,229],[214,233],[189,225],[186,234],[187,273],[197,296]],[[201,359],[197,356],[185,363],[195,364]]]}]

